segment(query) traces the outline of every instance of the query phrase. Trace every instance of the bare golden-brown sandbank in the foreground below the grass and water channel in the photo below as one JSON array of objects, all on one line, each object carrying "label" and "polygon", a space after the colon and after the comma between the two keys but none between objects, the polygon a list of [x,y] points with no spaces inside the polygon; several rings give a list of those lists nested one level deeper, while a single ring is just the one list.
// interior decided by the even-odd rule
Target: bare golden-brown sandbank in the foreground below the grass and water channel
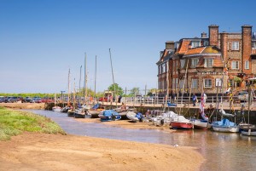
[{"label": "bare golden-brown sandbank in the foreground below the grass and water channel", "polygon": [[192,147],[24,133],[0,141],[0,170],[199,170]]}]

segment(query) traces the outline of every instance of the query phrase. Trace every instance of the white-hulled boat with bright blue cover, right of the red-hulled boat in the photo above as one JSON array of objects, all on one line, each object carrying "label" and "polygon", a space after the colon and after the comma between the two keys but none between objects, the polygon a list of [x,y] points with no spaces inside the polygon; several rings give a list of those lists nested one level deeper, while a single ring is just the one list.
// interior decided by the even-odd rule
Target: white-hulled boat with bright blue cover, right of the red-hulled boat
[{"label": "white-hulled boat with bright blue cover, right of the red-hulled boat", "polygon": [[229,119],[224,118],[221,121],[213,122],[212,129],[216,132],[238,133],[240,128],[236,123],[230,122]]}]

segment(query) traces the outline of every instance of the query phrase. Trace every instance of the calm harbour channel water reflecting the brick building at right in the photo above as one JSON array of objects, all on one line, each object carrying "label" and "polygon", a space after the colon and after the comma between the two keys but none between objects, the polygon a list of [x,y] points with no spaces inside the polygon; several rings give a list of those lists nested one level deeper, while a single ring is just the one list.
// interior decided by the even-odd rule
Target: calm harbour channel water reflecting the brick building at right
[{"label": "calm harbour channel water reflecting the brick building at right", "polygon": [[[67,134],[196,147],[206,158],[201,171],[256,169],[256,137],[201,130],[177,130],[175,133],[166,133],[153,129],[117,128],[101,123],[81,123],[61,112],[29,111],[51,118]],[[186,164],[185,161],[183,164]]]}]

